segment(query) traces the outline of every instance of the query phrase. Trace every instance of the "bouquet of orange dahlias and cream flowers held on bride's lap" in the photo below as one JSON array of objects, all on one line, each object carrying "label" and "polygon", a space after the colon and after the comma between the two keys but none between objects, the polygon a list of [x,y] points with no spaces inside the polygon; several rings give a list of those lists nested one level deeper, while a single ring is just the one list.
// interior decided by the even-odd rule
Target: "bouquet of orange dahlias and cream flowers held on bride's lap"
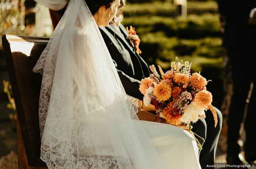
[{"label": "bouquet of orange dahlias and cream flowers held on bride's lap", "polygon": [[[160,66],[159,72],[154,65],[149,66],[152,74],[142,79],[139,86],[144,95],[145,106],[153,103],[156,114],[174,126],[187,125],[191,132],[191,124],[205,118],[204,110],[210,109],[217,126],[217,113],[212,106],[212,94],[207,91],[209,81],[199,73],[191,74],[191,64],[188,61],[171,63],[171,70],[164,72]],[[195,133],[194,133],[195,134]],[[198,135],[197,135],[198,136]],[[200,137],[201,138],[201,137]],[[199,149],[202,146],[196,139]]]}]

